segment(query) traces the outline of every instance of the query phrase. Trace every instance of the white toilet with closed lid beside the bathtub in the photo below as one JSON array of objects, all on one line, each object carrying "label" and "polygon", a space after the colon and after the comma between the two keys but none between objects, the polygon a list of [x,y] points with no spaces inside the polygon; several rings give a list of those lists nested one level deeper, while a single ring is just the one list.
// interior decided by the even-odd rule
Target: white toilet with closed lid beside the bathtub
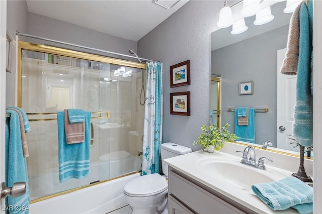
[{"label": "white toilet with closed lid beside the bathtub", "polygon": [[163,160],[192,152],[191,148],[174,143],[161,144],[162,169],[157,173],[143,175],[124,185],[124,195],[133,208],[133,214],[168,213],[168,164]]}]

